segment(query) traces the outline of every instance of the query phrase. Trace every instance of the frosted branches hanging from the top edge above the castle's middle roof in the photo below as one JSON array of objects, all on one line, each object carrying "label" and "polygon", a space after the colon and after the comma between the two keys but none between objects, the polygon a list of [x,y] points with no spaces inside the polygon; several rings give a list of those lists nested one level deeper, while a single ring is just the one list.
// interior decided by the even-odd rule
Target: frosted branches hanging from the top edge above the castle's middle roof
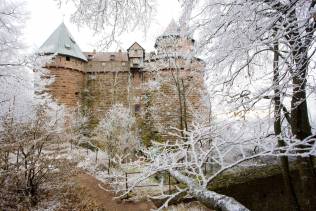
[{"label": "frosted branches hanging from the top edge above the castle's middle roof", "polygon": [[146,34],[155,15],[156,0],[56,0],[60,6],[72,4],[71,21],[100,35],[100,48],[119,44],[118,37],[136,28]]}]

